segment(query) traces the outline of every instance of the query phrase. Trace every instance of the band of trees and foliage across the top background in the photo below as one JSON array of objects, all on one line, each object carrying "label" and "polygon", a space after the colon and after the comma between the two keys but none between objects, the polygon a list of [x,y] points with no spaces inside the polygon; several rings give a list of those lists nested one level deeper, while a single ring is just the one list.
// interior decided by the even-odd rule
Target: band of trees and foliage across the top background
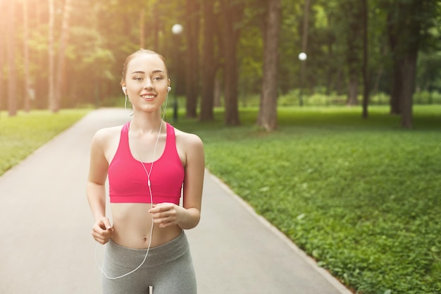
[{"label": "band of trees and foliage across the top background", "polygon": [[[225,123],[231,125],[240,123],[237,108],[247,105],[250,95],[268,90],[263,87],[275,87],[278,94],[301,87],[305,94],[346,94],[352,105],[359,103],[359,93],[383,92],[391,96],[391,113],[406,119],[411,118],[415,91],[441,91],[435,66],[441,62],[440,0],[366,0],[366,5],[311,0],[307,18],[304,2],[280,0],[278,61],[270,61],[278,63],[278,78],[269,86],[263,66],[271,60],[265,55],[274,54],[264,51],[268,3],[1,1],[0,107],[12,115],[13,109],[28,108],[29,92],[35,97],[32,108],[104,103],[120,94],[125,56],[140,47],[166,56],[173,89],[187,97],[187,116],[213,119],[213,106],[218,105],[213,100],[221,94]],[[366,64],[363,16],[368,20]],[[184,26],[179,36],[171,32],[175,23]],[[297,56],[305,40],[308,66],[302,82]],[[368,82],[362,82],[364,75]],[[221,85],[221,92],[215,85]],[[59,105],[51,106],[57,100]],[[403,125],[409,128],[411,120]]]}]

